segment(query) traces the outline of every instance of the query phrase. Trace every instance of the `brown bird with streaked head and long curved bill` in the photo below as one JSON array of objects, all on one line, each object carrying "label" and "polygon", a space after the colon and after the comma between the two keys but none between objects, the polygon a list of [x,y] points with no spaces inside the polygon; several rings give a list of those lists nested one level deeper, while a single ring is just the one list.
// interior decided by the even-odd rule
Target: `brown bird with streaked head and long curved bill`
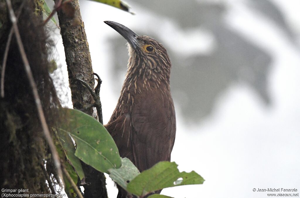
[{"label": "brown bird with streaked head and long curved bill", "polygon": [[[153,38],[139,36],[120,23],[104,23],[128,41],[129,52],[121,94],[105,127],[116,142],[120,156],[127,157],[142,172],[171,159],[176,115],[170,92],[170,57],[164,46]],[[117,187],[117,198],[128,196]]]}]

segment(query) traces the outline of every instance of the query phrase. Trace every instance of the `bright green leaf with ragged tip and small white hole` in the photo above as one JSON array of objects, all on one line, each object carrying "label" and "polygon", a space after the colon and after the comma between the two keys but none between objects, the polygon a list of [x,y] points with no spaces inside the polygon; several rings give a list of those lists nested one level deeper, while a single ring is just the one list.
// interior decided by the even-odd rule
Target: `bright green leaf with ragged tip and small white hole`
[{"label": "bright green leaf with ragged tip and small white hole", "polygon": [[203,184],[204,179],[196,172],[179,172],[177,166],[175,162],[159,162],[137,175],[127,185],[127,191],[137,196],[144,196],[167,187]]}]

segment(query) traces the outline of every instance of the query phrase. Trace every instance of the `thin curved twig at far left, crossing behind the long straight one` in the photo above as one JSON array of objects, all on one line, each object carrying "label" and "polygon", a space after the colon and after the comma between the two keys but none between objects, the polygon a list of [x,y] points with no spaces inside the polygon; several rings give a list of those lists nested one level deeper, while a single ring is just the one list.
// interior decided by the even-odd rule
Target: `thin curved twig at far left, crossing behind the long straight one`
[{"label": "thin curved twig at far left, crossing behind the long straight one", "polygon": [[[18,20],[22,8],[24,7],[24,2],[22,2],[22,5],[20,6],[19,10],[18,10],[18,14],[16,17],[16,20]],[[0,89],[1,89],[1,97],[4,98],[4,77],[5,77],[5,69],[6,69],[6,61],[7,61],[7,56],[8,56],[8,50],[10,47],[10,42],[11,42],[11,38],[13,37],[13,26],[10,29],[10,32],[8,34],[8,38],[7,38],[7,42],[6,42],[6,46],[5,46],[5,51],[4,51],[4,57],[3,57],[3,62],[2,62],[2,69],[1,69],[1,81],[0,81]]]}]

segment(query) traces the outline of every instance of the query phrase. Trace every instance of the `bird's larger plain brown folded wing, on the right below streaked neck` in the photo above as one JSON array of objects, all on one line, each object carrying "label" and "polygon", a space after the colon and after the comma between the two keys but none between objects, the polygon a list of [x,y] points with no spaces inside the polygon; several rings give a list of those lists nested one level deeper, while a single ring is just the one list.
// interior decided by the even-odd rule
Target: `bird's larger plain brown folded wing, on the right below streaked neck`
[{"label": "bird's larger plain brown folded wing, on the right below streaked neck", "polygon": [[134,105],[131,120],[130,136],[137,168],[143,171],[159,161],[170,161],[176,133],[171,95],[159,93],[145,97]]}]

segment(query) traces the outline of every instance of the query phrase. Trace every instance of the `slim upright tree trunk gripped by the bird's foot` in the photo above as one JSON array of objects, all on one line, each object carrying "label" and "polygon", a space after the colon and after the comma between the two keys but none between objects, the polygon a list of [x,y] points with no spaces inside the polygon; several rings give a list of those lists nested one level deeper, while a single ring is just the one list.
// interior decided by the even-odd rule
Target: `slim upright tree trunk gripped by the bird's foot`
[{"label": "slim upright tree trunk gripped by the bird's foot", "polygon": [[[57,3],[58,0],[54,2]],[[74,16],[72,11],[74,11]],[[64,9],[59,10],[57,14],[66,55],[73,107],[81,109],[94,100],[88,90],[76,80],[81,79],[91,87],[94,87],[95,80],[92,75],[91,56],[78,0],[72,1]],[[87,109],[85,113],[92,115],[93,109]],[[84,163],[82,163],[82,168],[85,173],[85,182],[89,183],[89,185],[84,185],[85,197],[107,198],[104,174]]]}]

